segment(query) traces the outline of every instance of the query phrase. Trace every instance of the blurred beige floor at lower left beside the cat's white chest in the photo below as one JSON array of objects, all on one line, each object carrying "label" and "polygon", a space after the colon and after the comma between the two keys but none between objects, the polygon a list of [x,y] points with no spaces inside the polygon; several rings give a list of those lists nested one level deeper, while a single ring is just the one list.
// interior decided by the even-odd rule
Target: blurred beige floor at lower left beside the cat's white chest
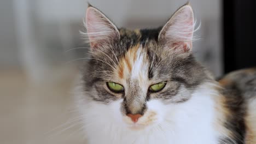
[{"label": "blurred beige floor at lower left beside the cat's white chest", "polygon": [[73,72],[37,84],[21,71],[0,72],[0,143],[84,143],[80,125],[71,122]]}]

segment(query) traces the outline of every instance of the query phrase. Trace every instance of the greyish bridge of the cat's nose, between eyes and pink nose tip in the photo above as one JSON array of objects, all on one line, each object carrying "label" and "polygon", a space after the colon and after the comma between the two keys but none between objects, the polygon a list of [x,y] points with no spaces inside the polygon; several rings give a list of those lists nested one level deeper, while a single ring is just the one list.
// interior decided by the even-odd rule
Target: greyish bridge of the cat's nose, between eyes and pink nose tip
[{"label": "greyish bridge of the cat's nose, between eyes and pink nose tip", "polygon": [[126,112],[133,115],[140,113],[143,114],[146,108],[146,93],[142,92],[138,82],[132,82],[128,92],[125,95]]}]

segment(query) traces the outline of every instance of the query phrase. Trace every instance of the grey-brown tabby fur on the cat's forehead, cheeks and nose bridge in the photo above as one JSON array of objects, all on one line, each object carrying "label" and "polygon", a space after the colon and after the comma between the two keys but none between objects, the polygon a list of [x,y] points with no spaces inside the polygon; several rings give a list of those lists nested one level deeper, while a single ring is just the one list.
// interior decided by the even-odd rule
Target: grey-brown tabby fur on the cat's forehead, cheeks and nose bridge
[{"label": "grey-brown tabby fur on the cat's forehead, cheeks and nose bridge", "polygon": [[[170,22],[161,31],[162,34],[166,33],[168,23]],[[91,59],[86,64],[88,69],[84,71],[84,87],[89,97],[104,104],[123,99],[121,110],[132,114],[143,114],[150,99],[160,99],[165,104],[184,103],[189,100],[194,89],[211,77],[195,60],[191,51],[182,51],[176,47],[167,49],[166,41],[158,39],[160,30],[161,28],[142,29],[138,32],[121,28],[118,38],[97,41],[97,47],[92,48]],[[160,38],[164,37],[165,35]],[[149,63],[148,73],[145,75],[155,82],[167,82],[165,88],[157,93],[144,92],[138,81],[127,79],[124,93],[108,91],[106,82],[117,79],[114,70],[120,65],[126,52],[136,45],[142,46],[141,52],[146,55]]]}]

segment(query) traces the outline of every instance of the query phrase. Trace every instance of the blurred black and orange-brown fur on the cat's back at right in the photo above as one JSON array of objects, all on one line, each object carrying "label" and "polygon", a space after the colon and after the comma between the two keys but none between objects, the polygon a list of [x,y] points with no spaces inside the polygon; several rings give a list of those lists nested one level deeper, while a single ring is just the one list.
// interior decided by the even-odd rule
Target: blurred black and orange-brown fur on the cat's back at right
[{"label": "blurred black and orange-brown fur on the cat's back at right", "polygon": [[[220,111],[225,113],[226,118],[224,119],[228,122],[231,121],[230,118],[241,119],[240,122],[243,122],[245,125],[244,139],[249,144],[256,143],[255,77],[256,68],[249,68],[234,71],[219,80],[220,86],[224,88],[221,90],[224,93],[224,97],[222,97],[223,102],[221,103],[224,109],[222,108]],[[254,84],[248,84],[248,82],[253,81]],[[240,106],[237,107],[237,105]],[[236,131],[231,131],[230,136],[232,138],[237,139],[239,137],[237,135]]]}]

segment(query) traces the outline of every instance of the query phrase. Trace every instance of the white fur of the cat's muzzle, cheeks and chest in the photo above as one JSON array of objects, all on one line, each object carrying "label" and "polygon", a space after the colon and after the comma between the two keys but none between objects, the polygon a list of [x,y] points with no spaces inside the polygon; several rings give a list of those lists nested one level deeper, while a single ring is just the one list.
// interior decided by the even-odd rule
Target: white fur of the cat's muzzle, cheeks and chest
[{"label": "white fur of the cat's muzzle, cheeks and chest", "polygon": [[190,100],[181,104],[148,101],[147,111],[156,112],[157,119],[140,130],[130,129],[124,121],[122,99],[106,105],[86,101],[86,96],[80,95],[79,111],[84,116],[86,137],[89,143],[218,143],[219,134],[213,125],[216,113],[212,95],[216,92],[210,87],[209,83],[201,85]]}]

